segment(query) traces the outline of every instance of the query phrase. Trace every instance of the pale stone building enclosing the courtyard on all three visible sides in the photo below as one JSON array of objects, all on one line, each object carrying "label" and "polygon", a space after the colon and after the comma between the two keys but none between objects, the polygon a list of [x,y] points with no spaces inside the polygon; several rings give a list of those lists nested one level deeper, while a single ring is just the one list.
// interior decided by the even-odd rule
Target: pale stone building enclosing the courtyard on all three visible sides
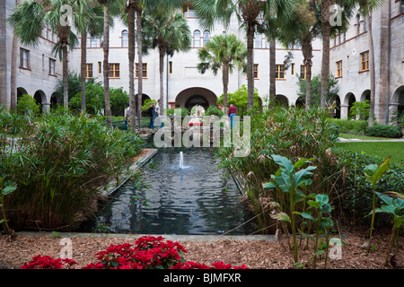
[{"label": "pale stone building enclosing the courtyard on all three visible sides", "polygon": [[[13,30],[5,19],[13,13],[15,1],[5,0],[0,4],[0,100],[10,103],[11,54],[13,50]],[[245,30],[233,16],[227,29],[216,24],[213,30],[200,27],[195,11],[185,5],[182,8],[189,24],[192,48],[188,52],[164,58],[164,108],[191,109],[197,102],[204,106],[215,106],[223,94],[221,73],[216,76],[207,71],[197,70],[198,49],[215,35],[234,34],[246,42]],[[394,111],[404,109],[404,0],[385,1],[382,7],[373,12],[373,46],[375,59],[375,116],[384,123],[391,119]],[[82,39],[80,39],[82,40]],[[102,83],[102,37],[87,39],[87,78]],[[52,54],[57,39],[48,27],[44,27],[38,47],[18,45],[17,93],[30,94],[42,107],[61,102],[55,97],[59,81],[62,79],[62,64]],[[128,91],[127,26],[119,19],[110,30],[110,87]],[[312,75],[321,73],[321,39],[313,41]],[[259,97],[265,103],[269,93],[269,43],[263,34],[254,39],[254,85]],[[355,101],[364,101],[370,96],[369,40],[367,24],[360,13],[354,13],[350,27],[330,43],[330,74],[338,80],[338,117],[347,118]],[[285,65],[285,57],[290,53],[293,60]],[[136,50],[137,59],[137,50]],[[136,61],[137,62],[137,61]],[[144,99],[159,98],[159,57],[157,50],[143,57]],[[80,43],[69,54],[69,69],[80,73]],[[304,78],[302,50],[298,47],[284,48],[277,43],[277,94],[275,99],[288,105],[298,104],[298,83]],[[137,67],[138,70],[138,67]],[[138,71],[136,71],[136,78]],[[229,79],[229,92],[247,85],[246,74],[234,70]],[[135,91],[137,81],[135,81]]]}]

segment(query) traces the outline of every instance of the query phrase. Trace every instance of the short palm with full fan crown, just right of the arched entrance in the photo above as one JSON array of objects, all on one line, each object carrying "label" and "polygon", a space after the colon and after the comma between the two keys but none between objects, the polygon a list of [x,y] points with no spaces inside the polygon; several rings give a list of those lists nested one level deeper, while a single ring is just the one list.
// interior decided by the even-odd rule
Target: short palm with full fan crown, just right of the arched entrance
[{"label": "short palm with full fan crown, just right of the arched entrance", "polygon": [[211,69],[216,75],[219,69],[222,69],[223,107],[226,115],[229,74],[233,72],[234,66],[245,67],[247,49],[235,35],[218,35],[210,39],[205,48],[198,51],[198,57],[201,61],[198,64],[198,71],[201,74]]}]

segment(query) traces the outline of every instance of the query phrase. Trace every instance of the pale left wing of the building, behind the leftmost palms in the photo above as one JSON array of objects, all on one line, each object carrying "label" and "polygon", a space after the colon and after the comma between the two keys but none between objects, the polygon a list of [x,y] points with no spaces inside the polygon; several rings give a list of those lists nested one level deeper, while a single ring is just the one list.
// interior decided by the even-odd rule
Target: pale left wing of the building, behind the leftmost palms
[{"label": "pale left wing of the building, behind the leftmost palms", "polygon": [[[0,2],[0,103],[9,106],[11,101],[11,71],[13,52],[13,29],[6,19],[15,9],[15,0]],[[31,95],[42,109],[57,103],[55,91],[62,79],[62,64],[52,53],[57,36],[44,27],[39,43],[35,47],[18,42],[16,69],[16,94]]]}]

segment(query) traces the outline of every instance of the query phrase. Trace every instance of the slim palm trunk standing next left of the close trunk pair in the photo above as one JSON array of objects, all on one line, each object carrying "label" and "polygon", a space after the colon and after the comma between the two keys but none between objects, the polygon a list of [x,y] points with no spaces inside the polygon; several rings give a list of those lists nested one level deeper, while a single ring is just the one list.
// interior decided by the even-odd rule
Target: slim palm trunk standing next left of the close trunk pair
[{"label": "slim palm trunk standing next left of the close trunk pair", "polygon": [[104,5],[104,93],[105,93],[105,116],[107,117],[107,126],[112,126],[110,121],[110,9]]}]

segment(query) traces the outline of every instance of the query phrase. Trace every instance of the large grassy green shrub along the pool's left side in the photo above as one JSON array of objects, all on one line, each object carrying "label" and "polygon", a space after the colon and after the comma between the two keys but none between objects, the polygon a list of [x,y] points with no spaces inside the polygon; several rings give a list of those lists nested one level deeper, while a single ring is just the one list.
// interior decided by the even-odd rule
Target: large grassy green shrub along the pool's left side
[{"label": "large grassy green shrub along the pool's left side", "polygon": [[5,148],[0,173],[17,189],[4,198],[16,229],[73,230],[97,208],[97,187],[118,175],[139,152],[142,140],[63,109],[31,120],[14,152]]}]

